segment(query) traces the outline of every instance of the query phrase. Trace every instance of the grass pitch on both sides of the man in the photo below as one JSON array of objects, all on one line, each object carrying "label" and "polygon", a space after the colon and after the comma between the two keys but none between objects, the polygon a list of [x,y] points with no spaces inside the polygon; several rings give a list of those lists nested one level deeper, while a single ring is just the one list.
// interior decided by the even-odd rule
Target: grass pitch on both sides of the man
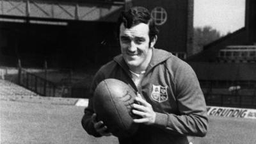
[{"label": "grass pitch on both sides of the man", "polygon": [[[1,143],[115,144],[111,137],[93,138],[81,127],[83,107],[0,100]],[[209,117],[201,144],[256,143],[256,120]]]}]

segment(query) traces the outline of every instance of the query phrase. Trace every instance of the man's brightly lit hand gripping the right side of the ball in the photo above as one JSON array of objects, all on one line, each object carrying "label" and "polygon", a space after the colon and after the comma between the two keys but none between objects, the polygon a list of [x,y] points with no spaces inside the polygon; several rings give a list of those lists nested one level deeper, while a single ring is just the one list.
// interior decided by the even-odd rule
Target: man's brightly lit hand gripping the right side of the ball
[{"label": "man's brightly lit hand gripping the right side of the ball", "polygon": [[151,125],[155,123],[156,113],[154,112],[151,104],[149,104],[146,100],[142,99],[141,96],[136,97],[135,100],[139,104],[133,104],[132,113],[135,115],[141,116],[140,119],[134,119],[135,123],[143,123],[146,125]]}]

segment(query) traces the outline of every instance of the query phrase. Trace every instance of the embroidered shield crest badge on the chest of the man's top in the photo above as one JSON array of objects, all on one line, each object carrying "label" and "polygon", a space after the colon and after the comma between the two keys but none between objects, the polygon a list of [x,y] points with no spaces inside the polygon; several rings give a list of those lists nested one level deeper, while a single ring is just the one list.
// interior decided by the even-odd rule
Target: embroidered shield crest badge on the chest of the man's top
[{"label": "embroidered shield crest badge on the chest of the man's top", "polygon": [[155,86],[152,84],[152,87],[151,97],[153,100],[156,100],[157,102],[168,100],[167,86]]}]

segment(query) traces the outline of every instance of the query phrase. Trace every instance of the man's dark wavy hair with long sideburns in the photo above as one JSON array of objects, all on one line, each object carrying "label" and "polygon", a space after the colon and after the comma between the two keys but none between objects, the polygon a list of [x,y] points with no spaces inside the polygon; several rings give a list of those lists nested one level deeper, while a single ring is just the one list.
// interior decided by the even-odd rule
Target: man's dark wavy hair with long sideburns
[{"label": "man's dark wavy hair with long sideburns", "polygon": [[154,39],[154,37],[158,34],[158,29],[156,28],[156,24],[154,19],[150,16],[147,8],[141,6],[132,7],[127,12],[121,12],[117,21],[117,37],[120,35],[120,26],[124,23],[125,28],[131,28],[132,26],[136,26],[137,24],[144,23],[148,24],[148,36],[150,42]]}]

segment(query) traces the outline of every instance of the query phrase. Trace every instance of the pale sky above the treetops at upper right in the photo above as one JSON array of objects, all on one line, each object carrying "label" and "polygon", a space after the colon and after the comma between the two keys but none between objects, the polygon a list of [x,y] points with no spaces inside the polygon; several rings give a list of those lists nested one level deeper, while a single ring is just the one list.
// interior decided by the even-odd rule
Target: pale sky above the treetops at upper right
[{"label": "pale sky above the treetops at upper right", "polygon": [[212,26],[221,35],[244,27],[245,0],[194,0],[194,27]]}]

